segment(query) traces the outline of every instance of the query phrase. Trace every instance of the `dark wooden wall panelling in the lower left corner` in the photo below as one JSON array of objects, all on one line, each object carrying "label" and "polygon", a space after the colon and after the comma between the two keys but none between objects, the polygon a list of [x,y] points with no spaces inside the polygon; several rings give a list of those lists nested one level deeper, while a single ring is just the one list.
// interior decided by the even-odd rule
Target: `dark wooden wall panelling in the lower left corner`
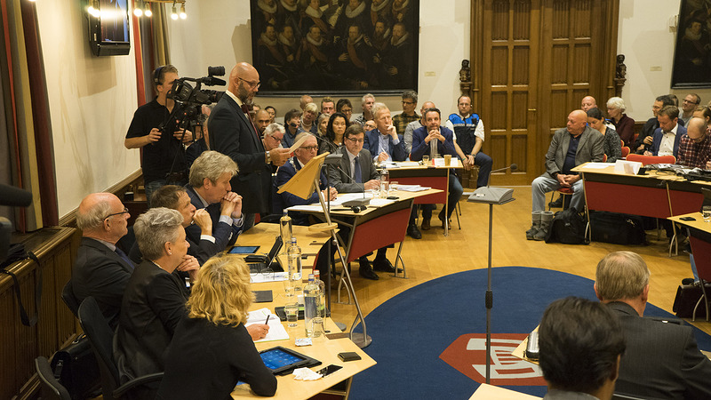
[{"label": "dark wooden wall panelling in the lower left corner", "polygon": [[[74,340],[78,324],[60,300],[71,276],[78,236],[75,228],[44,228],[28,238],[25,248],[34,252],[42,269],[42,300],[39,319],[33,327],[20,322],[12,277],[0,275],[0,398],[28,398],[36,389],[34,359],[51,357]],[[20,281],[22,303],[30,316],[35,310],[38,278],[33,260],[18,261],[10,268]]]}]

